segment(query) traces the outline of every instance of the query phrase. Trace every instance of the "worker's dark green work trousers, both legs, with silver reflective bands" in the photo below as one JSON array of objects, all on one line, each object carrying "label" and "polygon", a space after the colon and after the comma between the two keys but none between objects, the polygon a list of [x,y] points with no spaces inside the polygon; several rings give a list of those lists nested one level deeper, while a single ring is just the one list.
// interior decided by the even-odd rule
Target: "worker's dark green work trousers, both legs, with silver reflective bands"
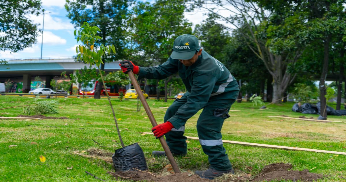
[{"label": "worker's dark green work trousers, both legs, with silver reflective bands", "polygon": [[[171,118],[181,105],[186,103],[187,97],[176,99],[167,109],[164,121]],[[210,168],[219,171],[232,169],[232,165],[222,145],[221,128],[224,120],[229,117],[228,112],[234,103],[218,103],[206,105],[197,120],[197,132],[203,152],[208,155]],[[167,145],[173,154],[186,154],[187,144],[184,137],[185,125],[179,129],[173,128],[165,134]]]}]

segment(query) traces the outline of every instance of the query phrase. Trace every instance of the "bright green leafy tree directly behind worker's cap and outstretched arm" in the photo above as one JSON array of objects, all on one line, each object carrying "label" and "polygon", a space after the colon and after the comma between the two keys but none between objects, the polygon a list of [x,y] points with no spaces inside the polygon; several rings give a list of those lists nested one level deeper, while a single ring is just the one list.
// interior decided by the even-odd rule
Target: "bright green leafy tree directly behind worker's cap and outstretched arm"
[{"label": "bright green leafy tree directly behind worker's cap and outstretched arm", "polygon": [[[133,52],[133,57],[129,57],[131,60],[139,66],[153,66],[167,61],[174,39],[192,32],[192,24],[184,18],[184,2],[185,0],[156,0],[153,4],[137,2],[133,8],[133,17],[129,21],[129,41]],[[165,102],[171,79],[172,76],[164,80]],[[157,99],[159,94],[157,87]]]}]

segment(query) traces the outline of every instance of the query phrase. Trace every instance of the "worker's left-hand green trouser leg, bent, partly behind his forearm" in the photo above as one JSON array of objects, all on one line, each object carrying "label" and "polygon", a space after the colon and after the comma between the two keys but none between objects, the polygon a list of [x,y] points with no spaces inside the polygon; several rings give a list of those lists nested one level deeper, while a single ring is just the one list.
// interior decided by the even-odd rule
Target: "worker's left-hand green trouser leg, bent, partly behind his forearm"
[{"label": "worker's left-hand green trouser leg, bent, partly behind his forearm", "polygon": [[[186,97],[176,99],[173,104],[167,109],[164,121],[170,119],[179,109],[179,107],[185,104],[187,101]],[[184,137],[185,126],[179,129],[173,128],[170,132],[165,134],[167,145],[173,154],[186,154],[188,145],[186,144],[186,137]]]}]

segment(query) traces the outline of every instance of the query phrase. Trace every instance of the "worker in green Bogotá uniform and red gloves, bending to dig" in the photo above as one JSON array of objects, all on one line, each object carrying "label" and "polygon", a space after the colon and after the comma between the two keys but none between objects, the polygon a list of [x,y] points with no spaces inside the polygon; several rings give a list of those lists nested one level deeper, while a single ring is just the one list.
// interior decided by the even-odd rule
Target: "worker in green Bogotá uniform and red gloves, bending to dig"
[{"label": "worker in green Bogot\u00e1 uniform and red gloves, bending to dig", "polygon": [[[178,72],[188,92],[167,109],[164,123],[152,128],[154,136],[165,135],[173,155],[186,155],[185,123],[203,109],[197,121],[197,132],[210,167],[195,173],[208,179],[234,173],[222,145],[221,128],[238,96],[236,79],[224,64],[200,48],[193,35],[178,36],[172,50],[170,58],[158,66],[138,67],[131,61],[122,61],[119,66],[124,73],[133,70],[138,79],[164,79]],[[153,155],[165,156],[165,153],[153,151]]]}]

